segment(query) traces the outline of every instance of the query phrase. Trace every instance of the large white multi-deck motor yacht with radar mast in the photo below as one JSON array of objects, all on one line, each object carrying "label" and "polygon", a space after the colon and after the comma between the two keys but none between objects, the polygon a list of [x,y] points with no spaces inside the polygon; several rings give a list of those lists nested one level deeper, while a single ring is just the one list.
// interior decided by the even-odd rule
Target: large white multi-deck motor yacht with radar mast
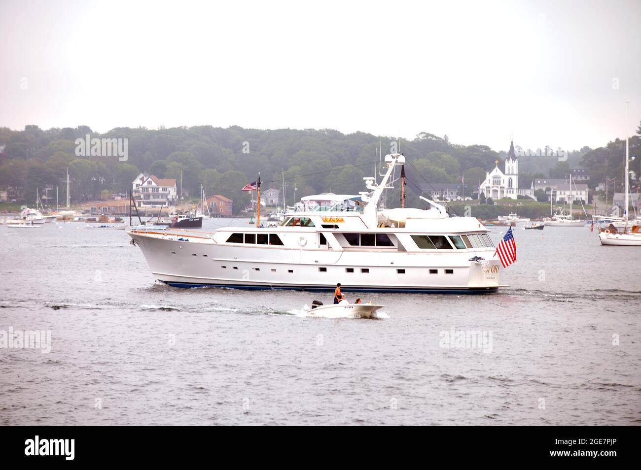
[{"label": "large white multi-deck motor yacht with radar mast", "polygon": [[360,195],[304,197],[278,227],[213,233],[132,227],[156,279],[178,287],[487,293],[501,268],[488,230],[445,208],[379,210],[401,154],[385,156],[382,181]]}]

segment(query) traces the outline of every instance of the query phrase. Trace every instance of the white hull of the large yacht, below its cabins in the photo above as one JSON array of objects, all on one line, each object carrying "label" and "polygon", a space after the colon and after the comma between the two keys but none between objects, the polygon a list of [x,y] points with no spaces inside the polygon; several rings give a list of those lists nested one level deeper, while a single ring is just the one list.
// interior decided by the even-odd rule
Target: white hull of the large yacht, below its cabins
[{"label": "white hull of the large yacht, below its cabins", "polygon": [[[129,236],[142,250],[154,277],[175,287],[333,291],[341,282],[344,291],[407,293],[488,293],[500,287],[502,268],[494,248],[399,255],[395,250],[339,252],[190,243],[187,240],[193,235],[174,233],[183,241],[135,230]],[[469,261],[475,255],[487,261]],[[438,273],[430,274],[430,268]]]}]

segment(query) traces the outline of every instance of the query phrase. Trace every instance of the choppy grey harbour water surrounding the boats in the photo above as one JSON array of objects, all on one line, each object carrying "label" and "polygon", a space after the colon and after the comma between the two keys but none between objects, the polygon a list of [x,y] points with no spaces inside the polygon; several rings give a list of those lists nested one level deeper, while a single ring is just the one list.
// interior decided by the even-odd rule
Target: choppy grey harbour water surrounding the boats
[{"label": "choppy grey harbour water surrounding the boats", "polygon": [[[50,353],[0,348],[0,425],[639,425],[641,249],[515,238],[501,293],[367,294],[364,320],[164,286],[124,231],[0,226],[0,330],[51,330]],[[452,328],[491,352],[440,347]]]}]

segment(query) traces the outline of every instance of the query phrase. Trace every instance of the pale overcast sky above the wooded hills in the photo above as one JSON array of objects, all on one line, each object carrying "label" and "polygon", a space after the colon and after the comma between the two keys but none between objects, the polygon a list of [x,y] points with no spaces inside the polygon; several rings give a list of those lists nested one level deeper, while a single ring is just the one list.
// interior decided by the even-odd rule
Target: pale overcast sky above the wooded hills
[{"label": "pale overcast sky above the wooded hills", "polygon": [[[0,0],[0,126],[420,131],[599,147],[641,120],[641,1]],[[618,83],[618,89],[616,85]],[[25,86],[26,85],[26,88]]]}]

